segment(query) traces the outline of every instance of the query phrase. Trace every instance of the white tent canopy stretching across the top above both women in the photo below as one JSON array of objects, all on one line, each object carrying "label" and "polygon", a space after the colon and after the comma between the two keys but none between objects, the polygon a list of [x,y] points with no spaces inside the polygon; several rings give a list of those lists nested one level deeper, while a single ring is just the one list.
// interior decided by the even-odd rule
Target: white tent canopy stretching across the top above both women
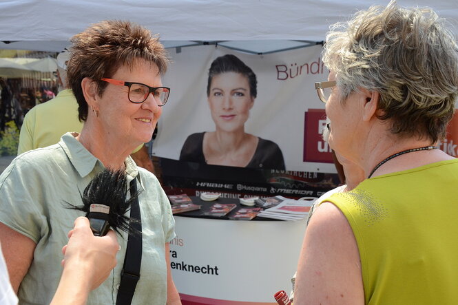
[{"label": "white tent canopy stretching across the top above both women", "polygon": [[[69,45],[71,36],[91,23],[123,19],[159,33],[169,48],[193,45],[195,41],[226,41],[229,48],[265,53],[319,43],[325,39],[330,24],[344,21],[372,4],[387,3],[388,0],[2,1],[0,41],[10,43],[0,42],[0,49],[59,52]],[[458,36],[458,0],[397,3],[433,8],[452,23]]]}]

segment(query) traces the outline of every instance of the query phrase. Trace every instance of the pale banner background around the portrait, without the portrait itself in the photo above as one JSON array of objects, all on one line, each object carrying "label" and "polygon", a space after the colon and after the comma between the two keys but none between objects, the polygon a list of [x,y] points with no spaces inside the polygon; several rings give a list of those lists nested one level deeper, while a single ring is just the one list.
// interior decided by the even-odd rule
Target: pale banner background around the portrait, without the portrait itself
[{"label": "pale banner background around the portrait, without the portrait itself", "polygon": [[[179,53],[171,49],[173,64],[163,77],[171,94],[158,123],[154,155],[178,160],[189,135],[215,131],[207,98],[208,70],[218,56],[233,54],[251,68],[258,81],[244,131],[278,145],[289,171],[335,172],[330,156],[328,162],[303,160],[304,114],[309,109],[324,110],[314,87],[329,74],[321,52],[321,45],[265,55],[214,45],[182,48]],[[315,133],[319,134],[318,125]]]}]

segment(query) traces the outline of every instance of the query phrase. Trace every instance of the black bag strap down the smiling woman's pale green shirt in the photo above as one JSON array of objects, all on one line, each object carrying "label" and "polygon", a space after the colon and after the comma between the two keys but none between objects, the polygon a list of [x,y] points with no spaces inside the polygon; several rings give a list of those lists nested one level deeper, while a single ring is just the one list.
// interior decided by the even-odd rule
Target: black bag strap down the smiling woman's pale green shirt
[{"label": "black bag strap down the smiling woman's pale green shirt", "polygon": [[140,204],[138,204],[136,178],[130,182],[130,196],[136,196],[130,207],[130,217],[136,222],[131,223],[131,227],[138,233],[129,231],[127,239],[127,249],[125,251],[124,266],[121,271],[121,283],[118,288],[116,305],[127,305],[132,303],[135,287],[140,280],[140,265],[142,258],[142,226],[140,215]]}]

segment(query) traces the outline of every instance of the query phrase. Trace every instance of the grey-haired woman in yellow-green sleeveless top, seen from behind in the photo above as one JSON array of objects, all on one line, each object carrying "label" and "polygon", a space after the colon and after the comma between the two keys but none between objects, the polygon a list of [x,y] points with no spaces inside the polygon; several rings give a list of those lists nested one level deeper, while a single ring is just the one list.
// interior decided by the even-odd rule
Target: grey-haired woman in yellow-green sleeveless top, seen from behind
[{"label": "grey-haired woman in yellow-green sleeveless top, seen from behind", "polygon": [[392,2],[327,35],[331,73],[316,87],[329,145],[366,180],[315,210],[295,304],[456,303],[458,160],[435,145],[455,111],[458,46],[443,24]]}]

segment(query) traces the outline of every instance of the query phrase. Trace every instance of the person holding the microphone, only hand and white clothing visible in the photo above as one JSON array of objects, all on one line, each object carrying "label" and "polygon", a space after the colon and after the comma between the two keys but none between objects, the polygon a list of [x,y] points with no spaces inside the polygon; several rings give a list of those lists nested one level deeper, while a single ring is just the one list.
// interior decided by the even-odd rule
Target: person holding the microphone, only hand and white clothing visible
[{"label": "person holding the microphone, only hand and white clothing visible", "polygon": [[[63,273],[51,305],[86,304],[90,291],[98,287],[116,266],[118,246],[114,231],[95,237],[87,218],[76,218],[68,243],[62,249]],[[18,299],[10,284],[1,251],[0,278],[0,304],[17,305]]]}]

